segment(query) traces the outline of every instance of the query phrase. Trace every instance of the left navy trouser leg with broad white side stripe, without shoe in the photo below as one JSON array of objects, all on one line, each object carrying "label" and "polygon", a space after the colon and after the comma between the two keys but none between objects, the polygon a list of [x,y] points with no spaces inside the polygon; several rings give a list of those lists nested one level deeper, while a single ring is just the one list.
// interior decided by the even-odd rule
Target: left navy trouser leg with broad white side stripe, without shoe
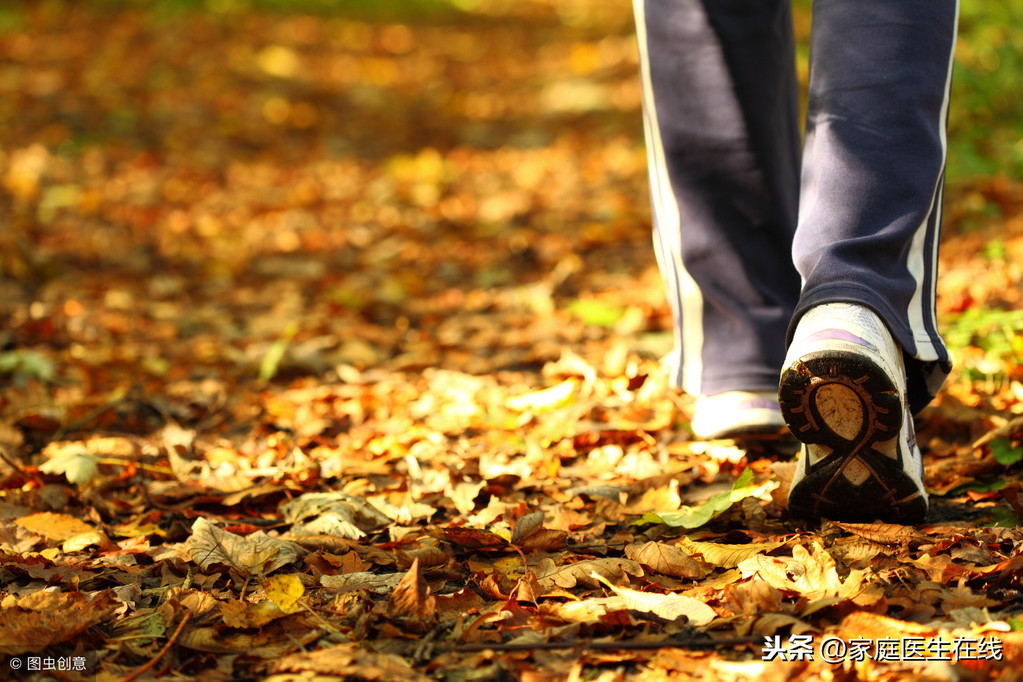
[{"label": "left navy trouser leg with broad white side stripe, without shoe", "polygon": [[774,392],[799,295],[788,0],[635,0],[655,247],[694,396]]}]

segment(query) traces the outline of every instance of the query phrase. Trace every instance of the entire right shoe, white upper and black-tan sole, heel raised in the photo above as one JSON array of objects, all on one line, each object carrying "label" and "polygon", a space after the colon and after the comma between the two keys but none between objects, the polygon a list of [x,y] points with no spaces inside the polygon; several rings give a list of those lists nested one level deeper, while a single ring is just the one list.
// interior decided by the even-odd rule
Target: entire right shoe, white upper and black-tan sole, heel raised
[{"label": "entire right shoe, white upper and black-tan sole, heel raised", "polygon": [[803,442],[789,509],[804,517],[914,522],[927,512],[905,365],[870,309],[833,303],[796,326],[779,388]]}]

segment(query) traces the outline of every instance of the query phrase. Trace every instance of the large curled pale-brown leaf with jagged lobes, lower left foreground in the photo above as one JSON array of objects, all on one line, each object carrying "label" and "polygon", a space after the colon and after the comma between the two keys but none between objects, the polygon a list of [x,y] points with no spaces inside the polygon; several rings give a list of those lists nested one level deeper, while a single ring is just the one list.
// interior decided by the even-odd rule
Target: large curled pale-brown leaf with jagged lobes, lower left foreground
[{"label": "large curled pale-brown leaf with jagged lobes, lower left foreground", "polygon": [[262,531],[241,537],[217,528],[202,516],[192,524],[184,543],[192,561],[203,569],[223,563],[249,576],[262,577],[298,560],[295,545],[275,540]]}]

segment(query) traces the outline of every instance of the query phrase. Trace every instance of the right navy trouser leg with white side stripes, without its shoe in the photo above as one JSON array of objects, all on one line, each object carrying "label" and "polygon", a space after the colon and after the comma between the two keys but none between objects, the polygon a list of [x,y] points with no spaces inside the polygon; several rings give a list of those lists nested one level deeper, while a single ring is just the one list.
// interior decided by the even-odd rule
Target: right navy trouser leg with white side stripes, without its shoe
[{"label": "right navy trouser leg with white side stripes, without its shoe", "polygon": [[876,312],[906,355],[910,408],[950,367],[935,323],[957,0],[816,0],[790,326],[829,302]]}]

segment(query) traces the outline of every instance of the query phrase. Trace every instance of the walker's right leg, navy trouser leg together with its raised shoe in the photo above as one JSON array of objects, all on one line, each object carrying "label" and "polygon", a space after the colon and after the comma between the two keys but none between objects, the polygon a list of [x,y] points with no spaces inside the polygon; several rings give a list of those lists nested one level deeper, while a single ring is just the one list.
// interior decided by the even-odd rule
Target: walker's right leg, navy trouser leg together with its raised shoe
[{"label": "walker's right leg, navy trouser leg together with its raised shoe", "polygon": [[796,514],[920,520],[911,413],[947,374],[934,320],[955,0],[816,0],[781,378]]}]

